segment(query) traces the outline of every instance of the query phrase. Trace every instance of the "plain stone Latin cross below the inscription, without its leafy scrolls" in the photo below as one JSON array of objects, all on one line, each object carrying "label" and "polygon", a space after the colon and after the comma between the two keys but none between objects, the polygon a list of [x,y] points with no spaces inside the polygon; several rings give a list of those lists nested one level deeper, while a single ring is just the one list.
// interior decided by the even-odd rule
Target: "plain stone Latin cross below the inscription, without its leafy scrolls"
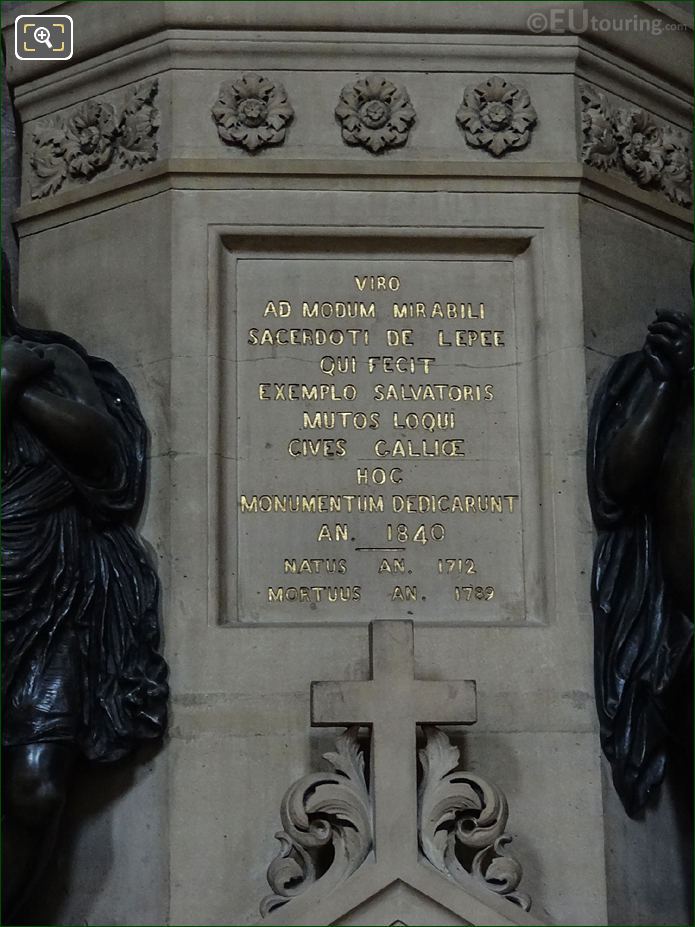
[{"label": "plain stone Latin cross below the inscription, without its leafy scrolls", "polygon": [[364,682],[313,682],[311,723],[368,725],[374,848],[379,864],[417,860],[417,724],[474,724],[475,682],[415,678],[412,621],[370,626],[371,676]]}]

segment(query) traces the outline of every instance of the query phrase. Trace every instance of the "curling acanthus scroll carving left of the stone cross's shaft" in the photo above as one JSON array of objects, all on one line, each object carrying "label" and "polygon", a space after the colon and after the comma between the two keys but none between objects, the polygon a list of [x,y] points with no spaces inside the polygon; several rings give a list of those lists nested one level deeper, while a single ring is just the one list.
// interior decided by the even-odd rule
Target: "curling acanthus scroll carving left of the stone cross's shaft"
[{"label": "curling acanthus scroll carving left of the stone cross's shaft", "polygon": [[272,894],[261,902],[265,917],[316,882],[329,891],[347,879],[373,844],[372,808],[357,728],[336,739],[324,754],[328,772],[310,773],[285,794],[280,808],[281,848],[268,867]]}]

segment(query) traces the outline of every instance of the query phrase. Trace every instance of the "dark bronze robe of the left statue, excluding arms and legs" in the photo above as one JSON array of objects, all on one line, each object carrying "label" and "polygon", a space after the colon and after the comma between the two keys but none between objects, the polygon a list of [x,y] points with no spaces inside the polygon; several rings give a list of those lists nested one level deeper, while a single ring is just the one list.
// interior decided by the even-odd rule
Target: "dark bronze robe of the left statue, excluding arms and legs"
[{"label": "dark bronze robe of the left statue, excluding arms and legs", "polygon": [[[41,442],[18,412],[3,442],[3,742],[74,743],[117,760],[166,726],[159,584],[134,530],[147,429],[125,378],[72,339],[117,423],[108,475],[90,480]],[[59,389],[59,387],[58,387]]]}]

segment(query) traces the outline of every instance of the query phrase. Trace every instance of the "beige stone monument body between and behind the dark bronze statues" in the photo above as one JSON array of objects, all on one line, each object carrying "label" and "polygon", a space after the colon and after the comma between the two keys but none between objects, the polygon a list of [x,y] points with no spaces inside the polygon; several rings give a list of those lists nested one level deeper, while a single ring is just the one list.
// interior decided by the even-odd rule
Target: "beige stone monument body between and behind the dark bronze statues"
[{"label": "beige stone monument body between and behind the dark bronze statues", "polygon": [[[411,718],[408,788],[441,721],[506,796],[533,907],[495,917],[686,923],[668,795],[630,821],[602,770],[584,461],[600,375],[689,305],[688,10],[20,12],[74,25],[69,61],[7,58],[22,302],[140,397],[172,684],[166,750],[122,800],[76,800],[51,917],[256,923],[288,785],[386,713],[309,725],[312,682],[370,679],[380,620],[413,622],[418,680],[475,680],[465,741],[465,703]],[[373,888],[362,923],[495,922]]]}]

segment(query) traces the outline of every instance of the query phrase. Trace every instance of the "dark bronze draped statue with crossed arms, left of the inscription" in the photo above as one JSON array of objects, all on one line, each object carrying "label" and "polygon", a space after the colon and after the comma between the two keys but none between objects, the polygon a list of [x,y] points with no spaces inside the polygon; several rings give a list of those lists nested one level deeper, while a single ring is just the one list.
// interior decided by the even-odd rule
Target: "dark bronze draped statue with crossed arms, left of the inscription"
[{"label": "dark bronze draped statue with crossed arms, left of the inscription", "polygon": [[135,532],[147,429],[109,363],[22,326],[3,254],[4,923],[55,847],[75,761],[166,726],[159,584]]}]

